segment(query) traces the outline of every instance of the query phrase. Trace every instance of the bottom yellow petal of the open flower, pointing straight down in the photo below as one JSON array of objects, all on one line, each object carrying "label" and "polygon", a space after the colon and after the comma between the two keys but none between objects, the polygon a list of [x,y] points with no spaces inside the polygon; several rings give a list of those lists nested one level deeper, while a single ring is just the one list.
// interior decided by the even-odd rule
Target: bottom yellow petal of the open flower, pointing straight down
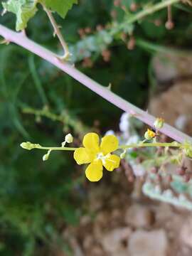
[{"label": "bottom yellow petal of the open flower, pointing straight down", "polygon": [[93,161],[85,170],[85,175],[89,181],[100,181],[102,178],[102,161]]}]

